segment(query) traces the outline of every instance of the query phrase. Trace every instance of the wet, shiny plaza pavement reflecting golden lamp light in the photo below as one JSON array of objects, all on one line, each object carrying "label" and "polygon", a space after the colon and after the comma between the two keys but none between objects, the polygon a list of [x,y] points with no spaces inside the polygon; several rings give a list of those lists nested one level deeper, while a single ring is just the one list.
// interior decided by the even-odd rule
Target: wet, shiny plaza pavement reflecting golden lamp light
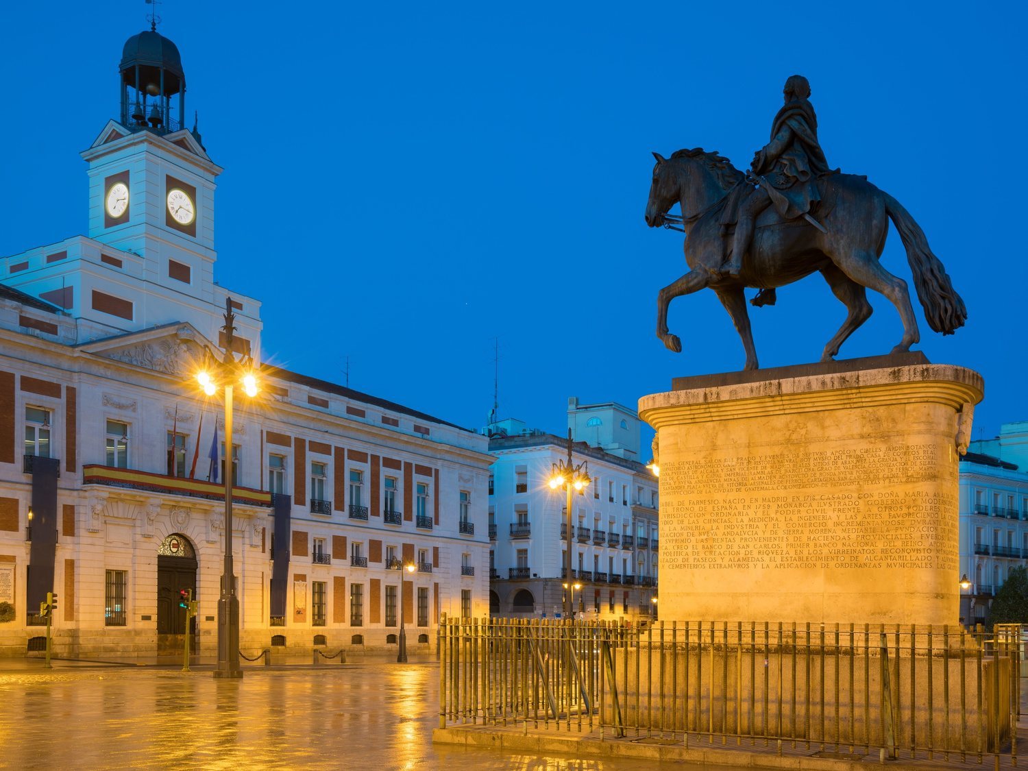
[{"label": "wet, shiny plaza pavement reflecting golden lamp light", "polygon": [[47,671],[38,661],[0,662],[0,768],[670,768],[433,745],[434,661],[245,671],[222,681],[210,668],[57,662]]}]

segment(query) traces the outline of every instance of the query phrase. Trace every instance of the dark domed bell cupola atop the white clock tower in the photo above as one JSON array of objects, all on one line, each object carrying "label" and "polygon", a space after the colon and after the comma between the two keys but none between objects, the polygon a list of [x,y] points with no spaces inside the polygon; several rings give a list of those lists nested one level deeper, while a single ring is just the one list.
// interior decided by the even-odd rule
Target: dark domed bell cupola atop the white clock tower
[{"label": "dark domed bell cupola atop the white clock tower", "polygon": [[186,127],[186,76],[178,47],[156,27],[151,22],[149,30],[133,35],[121,50],[120,122],[133,132],[170,134]]}]

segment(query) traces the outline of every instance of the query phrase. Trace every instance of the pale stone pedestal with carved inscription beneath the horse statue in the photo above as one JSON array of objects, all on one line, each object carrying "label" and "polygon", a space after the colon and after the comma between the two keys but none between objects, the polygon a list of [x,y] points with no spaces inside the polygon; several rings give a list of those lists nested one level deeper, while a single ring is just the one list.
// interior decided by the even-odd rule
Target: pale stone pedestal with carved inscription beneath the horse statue
[{"label": "pale stone pedestal with carved inscription beneath the horse statue", "polygon": [[981,375],[922,354],[677,378],[657,430],[664,619],[956,624]]}]

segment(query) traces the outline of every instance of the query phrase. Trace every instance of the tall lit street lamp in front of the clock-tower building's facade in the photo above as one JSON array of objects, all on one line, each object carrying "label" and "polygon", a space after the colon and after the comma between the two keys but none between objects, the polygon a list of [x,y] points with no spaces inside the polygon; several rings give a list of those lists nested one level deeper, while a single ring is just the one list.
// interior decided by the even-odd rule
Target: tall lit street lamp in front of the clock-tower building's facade
[{"label": "tall lit street lamp in front of the clock-tower building's facade", "polygon": [[257,396],[257,377],[250,354],[235,361],[233,335],[235,314],[232,300],[225,298],[225,354],[221,362],[208,362],[196,381],[207,396],[214,396],[219,383],[225,390],[225,565],[218,599],[218,668],[215,677],[242,677],[240,669],[240,598],[235,594],[235,571],[232,565],[232,390],[238,383],[249,397]]}]

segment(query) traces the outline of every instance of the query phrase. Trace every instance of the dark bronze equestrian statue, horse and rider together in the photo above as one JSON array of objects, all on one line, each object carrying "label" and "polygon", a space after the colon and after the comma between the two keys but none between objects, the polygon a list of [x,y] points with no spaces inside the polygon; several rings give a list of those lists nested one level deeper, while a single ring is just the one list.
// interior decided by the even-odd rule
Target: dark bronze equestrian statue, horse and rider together
[{"label": "dark bronze equestrian statue, horse and rider together", "polygon": [[[743,175],[717,152],[678,150],[670,158],[654,153],[646,221],[686,233],[689,272],[657,295],[657,336],[674,352],[682,342],[667,329],[672,299],[709,287],[742,338],[745,369],[757,369],[743,290],[760,289],[750,302],[773,305],[775,288],[814,271],[829,283],[848,310],[846,320],[821,355],[830,361],[853,331],[871,316],[866,295],[885,295],[903,320],[904,334],[892,353],[909,351],[920,339],[907,283],[879,263],[888,220],[907,250],[918,299],[937,332],[952,334],[967,318],[946,268],[928,248],[924,232],[895,198],[866,177],[829,168],[817,139],[817,117],[807,79],[785,83],[785,104],[775,116],[771,141],[754,156]],[[678,204],[682,217],[668,211]]]}]

